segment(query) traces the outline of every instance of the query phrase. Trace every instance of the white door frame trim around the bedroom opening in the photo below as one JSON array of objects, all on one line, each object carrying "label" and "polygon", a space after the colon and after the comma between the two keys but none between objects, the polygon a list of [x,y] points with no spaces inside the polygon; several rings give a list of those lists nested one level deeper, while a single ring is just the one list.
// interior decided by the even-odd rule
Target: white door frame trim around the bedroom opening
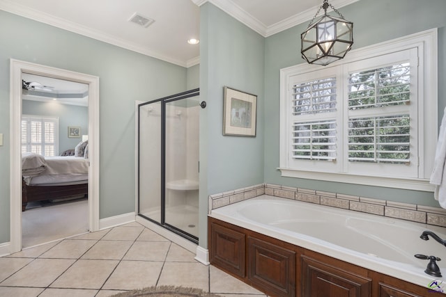
[{"label": "white door frame trim around the bedroom opening", "polygon": [[22,73],[89,85],[89,231],[99,230],[99,77],[10,59],[10,253],[22,250]]}]

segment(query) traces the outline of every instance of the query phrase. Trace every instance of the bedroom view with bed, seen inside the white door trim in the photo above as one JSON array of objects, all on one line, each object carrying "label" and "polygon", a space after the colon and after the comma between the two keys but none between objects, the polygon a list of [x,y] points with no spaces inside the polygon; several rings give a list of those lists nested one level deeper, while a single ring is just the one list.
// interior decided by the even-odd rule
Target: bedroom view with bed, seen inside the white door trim
[{"label": "bedroom view with bed, seen inside the white door trim", "polygon": [[89,231],[89,85],[22,73],[22,248]]}]

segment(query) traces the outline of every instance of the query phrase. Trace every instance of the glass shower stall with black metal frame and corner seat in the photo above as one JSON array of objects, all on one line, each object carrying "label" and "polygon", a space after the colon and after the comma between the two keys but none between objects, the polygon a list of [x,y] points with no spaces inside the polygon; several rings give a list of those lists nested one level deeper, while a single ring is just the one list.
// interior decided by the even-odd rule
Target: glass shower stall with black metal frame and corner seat
[{"label": "glass shower stall with black metal frame and corner seat", "polygon": [[199,89],[138,106],[138,214],[198,243]]}]

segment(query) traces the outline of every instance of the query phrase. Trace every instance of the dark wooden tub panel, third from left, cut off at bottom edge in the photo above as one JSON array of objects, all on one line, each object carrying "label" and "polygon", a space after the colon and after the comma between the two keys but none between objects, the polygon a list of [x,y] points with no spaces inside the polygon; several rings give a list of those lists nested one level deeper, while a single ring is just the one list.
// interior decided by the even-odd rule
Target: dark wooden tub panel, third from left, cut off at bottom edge
[{"label": "dark wooden tub panel, third from left, cut off at bottom edge", "polygon": [[302,296],[369,297],[371,280],[302,255]]}]

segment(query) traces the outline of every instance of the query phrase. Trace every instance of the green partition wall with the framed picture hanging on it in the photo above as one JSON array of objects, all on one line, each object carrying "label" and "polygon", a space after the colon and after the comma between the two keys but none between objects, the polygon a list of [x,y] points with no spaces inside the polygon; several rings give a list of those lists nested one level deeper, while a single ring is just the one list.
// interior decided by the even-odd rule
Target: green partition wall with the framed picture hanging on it
[{"label": "green partition wall with the framed picture hanging on it", "polygon": [[[263,183],[265,39],[210,3],[200,10],[200,246],[208,195]],[[256,137],[223,136],[223,88],[257,95]],[[201,228],[202,227],[202,228]]]}]

